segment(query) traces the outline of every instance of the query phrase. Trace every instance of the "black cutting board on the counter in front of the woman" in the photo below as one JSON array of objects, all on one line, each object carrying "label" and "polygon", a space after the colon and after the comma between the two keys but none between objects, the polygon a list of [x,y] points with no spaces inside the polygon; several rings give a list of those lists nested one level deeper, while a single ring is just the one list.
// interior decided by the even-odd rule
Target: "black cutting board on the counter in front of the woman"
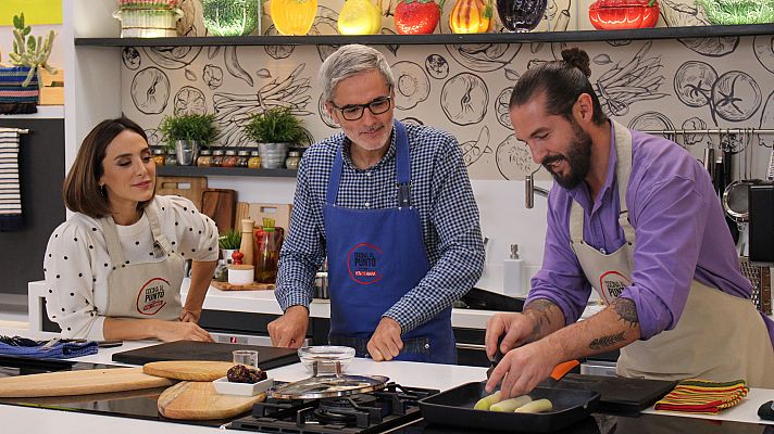
[{"label": "black cutting board on the counter in front of the woman", "polygon": [[235,349],[257,350],[258,366],[265,370],[291,365],[298,361],[298,353],[296,349],[196,341],[165,342],[163,344],[151,345],[145,348],[115,353],[113,354],[113,361],[129,365],[145,365],[150,361],[163,360],[232,361],[232,352]]}]

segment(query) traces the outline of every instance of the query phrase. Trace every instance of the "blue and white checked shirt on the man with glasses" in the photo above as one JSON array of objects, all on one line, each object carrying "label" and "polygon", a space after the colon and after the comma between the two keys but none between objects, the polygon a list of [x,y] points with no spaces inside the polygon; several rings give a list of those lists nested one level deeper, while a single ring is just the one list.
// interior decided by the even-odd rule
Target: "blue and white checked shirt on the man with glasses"
[{"label": "blue and white checked shirt on the man with glasses", "polygon": [[[484,268],[478,207],[457,140],[429,127],[405,125],[405,129],[411,201],[422,221],[430,270],[384,314],[398,321],[403,333],[429,321],[463,296],[478,281]],[[279,254],[275,293],[283,310],[296,305],[309,307],[312,301],[314,277],[325,259],[323,206],[330,168],[340,146],[345,146],[345,164],[336,205],[358,209],[398,206],[395,130],[385,156],[365,170],[352,164],[350,144],[344,133],[337,133],[303,154],[291,230]]]}]

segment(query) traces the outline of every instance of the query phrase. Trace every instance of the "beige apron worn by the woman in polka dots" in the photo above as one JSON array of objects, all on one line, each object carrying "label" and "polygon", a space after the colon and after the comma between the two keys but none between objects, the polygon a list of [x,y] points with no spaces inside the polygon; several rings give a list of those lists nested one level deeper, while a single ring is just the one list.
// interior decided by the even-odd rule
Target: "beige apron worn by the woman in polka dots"
[{"label": "beige apron worn by the woman in polka dots", "polygon": [[164,259],[157,263],[126,264],[118,231],[112,217],[100,219],[110,261],[115,267],[108,280],[107,317],[176,320],[183,308],[180,284],[185,259],[175,253],[161,232],[159,214],[151,203],[146,207],[153,250]]}]

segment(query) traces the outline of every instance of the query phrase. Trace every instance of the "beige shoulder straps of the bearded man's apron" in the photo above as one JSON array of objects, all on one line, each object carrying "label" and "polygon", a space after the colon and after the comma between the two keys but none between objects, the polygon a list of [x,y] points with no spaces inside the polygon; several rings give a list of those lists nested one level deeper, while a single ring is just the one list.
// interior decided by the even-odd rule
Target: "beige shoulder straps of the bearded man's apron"
[{"label": "beige shoulder straps of the bearded man's apron", "polygon": [[[624,230],[624,237],[629,244],[634,244],[635,231],[628,220],[628,206],[626,205],[626,189],[628,178],[632,173],[632,131],[610,119],[613,125],[613,140],[615,144],[615,183],[619,192],[619,225]],[[573,201],[570,210],[570,239],[573,243],[583,243],[584,209],[577,202]]]}]

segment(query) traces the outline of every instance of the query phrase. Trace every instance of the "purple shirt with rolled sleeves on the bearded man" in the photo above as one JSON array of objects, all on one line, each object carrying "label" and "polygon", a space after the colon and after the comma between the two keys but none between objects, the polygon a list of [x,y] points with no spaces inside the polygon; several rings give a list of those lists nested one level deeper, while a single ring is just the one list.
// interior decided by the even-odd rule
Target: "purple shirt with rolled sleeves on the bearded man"
[{"label": "purple shirt with rolled sleeves on the bearded man", "polygon": [[[591,292],[570,246],[570,209],[584,208],[584,240],[610,254],[626,241],[619,225],[614,135],[608,175],[597,201],[586,182],[573,190],[554,186],[548,196],[548,231],[542,269],[532,279],[528,301],[548,298],[566,324],[580,317]],[[635,268],[621,294],[637,306],[644,340],[672,330],[688,299],[691,281],[750,298],[752,286],[739,271],[738,256],[708,171],[676,143],[632,131],[632,173],[626,190],[635,228]],[[774,341],[773,323],[765,316]]]}]

